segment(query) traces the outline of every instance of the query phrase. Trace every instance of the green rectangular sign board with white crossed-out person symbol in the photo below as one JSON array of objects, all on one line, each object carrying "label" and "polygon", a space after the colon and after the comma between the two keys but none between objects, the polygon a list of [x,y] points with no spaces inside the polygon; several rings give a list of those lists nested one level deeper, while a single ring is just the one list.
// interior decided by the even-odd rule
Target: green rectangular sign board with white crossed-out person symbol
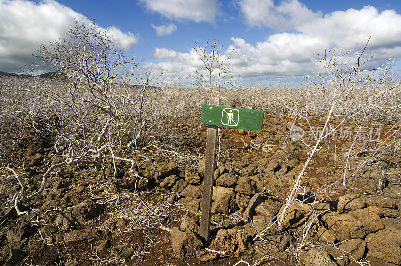
[{"label": "green rectangular sign board with white crossed-out person symbol", "polygon": [[200,121],[203,124],[241,128],[252,131],[262,129],[263,110],[221,105],[202,105]]}]

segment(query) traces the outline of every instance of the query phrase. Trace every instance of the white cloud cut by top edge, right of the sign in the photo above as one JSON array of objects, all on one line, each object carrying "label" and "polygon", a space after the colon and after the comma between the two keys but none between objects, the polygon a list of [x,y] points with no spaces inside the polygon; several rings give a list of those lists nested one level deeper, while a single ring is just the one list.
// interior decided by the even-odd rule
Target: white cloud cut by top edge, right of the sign
[{"label": "white cloud cut by top edge, right of the sign", "polygon": [[273,0],[240,0],[240,11],[250,27],[271,27],[285,31],[322,16],[298,0],[286,0],[275,6]]}]

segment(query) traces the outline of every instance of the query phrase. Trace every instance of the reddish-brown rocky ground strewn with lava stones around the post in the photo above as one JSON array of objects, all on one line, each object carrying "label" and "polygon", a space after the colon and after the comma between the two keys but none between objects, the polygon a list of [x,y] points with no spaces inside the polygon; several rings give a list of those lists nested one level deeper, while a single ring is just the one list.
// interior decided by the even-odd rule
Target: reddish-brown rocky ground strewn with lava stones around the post
[{"label": "reddish-brown rocky ground strewn with lava stones around the post", "polygon": [[[209,246],[198,236],[202,127],[182,143],[193,153],[161,145],[132,151],[133,165],[116,161],[114,182],[111,159],[103,172],[91,166],[55,170],[43,193],[20,206],[28,214],[17,216],[8,205],[21,187],[4,175],[0,265],[401,264],[401,154],[363,166],[344,186],[341,150],[350,144],[323,141],[279,229],[272,223],[307,151],[288,139],[285,118],[267,115],[264,121],[261,132],[220,132]],[[28,194],[49,165],[63,160],[54,156],[51,140],[30,131],[8,141],[14,151],[5,164],[19,169]]]}]

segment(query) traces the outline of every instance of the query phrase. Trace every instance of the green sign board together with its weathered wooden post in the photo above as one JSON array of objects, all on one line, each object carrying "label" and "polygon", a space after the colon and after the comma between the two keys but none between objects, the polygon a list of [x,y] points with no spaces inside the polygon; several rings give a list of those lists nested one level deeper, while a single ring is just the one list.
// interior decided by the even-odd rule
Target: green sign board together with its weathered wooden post
[{"label": "green sign board together with its weathered wooden post", "polygon": [[200,213],[200,236],[206,244],[210,238],[210,216],[213,195],[213,175],[216,166],[218,127],[231,127],[252,131],[262,129],[263,110],[221,106],[220,98],[213,97],[210,104],[202,106],[200,121],[208,125],[202,210]]}]

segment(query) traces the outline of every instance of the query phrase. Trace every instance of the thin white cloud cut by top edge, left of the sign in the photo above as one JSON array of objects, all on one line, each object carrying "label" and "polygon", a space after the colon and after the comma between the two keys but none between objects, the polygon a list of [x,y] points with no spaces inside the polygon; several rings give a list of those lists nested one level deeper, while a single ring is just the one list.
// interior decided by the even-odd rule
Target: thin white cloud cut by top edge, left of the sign
[{"label": "thin white cloud cut by top edge, left of the sign", "polygon": [[176,20],[213,23],[218,12],[216,0],[139,0],[147,9]]}]

